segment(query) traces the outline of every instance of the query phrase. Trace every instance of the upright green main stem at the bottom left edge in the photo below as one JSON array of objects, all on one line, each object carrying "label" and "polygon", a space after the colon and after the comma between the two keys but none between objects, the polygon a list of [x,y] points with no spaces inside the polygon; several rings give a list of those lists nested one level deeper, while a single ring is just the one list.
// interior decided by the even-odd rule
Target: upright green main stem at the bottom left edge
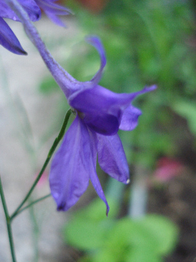
[{"label": "upright green main stem at the bottom left edge", "polygon": [[13,236],[12,236],[12,231],[11,231],[11,220],[10,220],[8,210],[7,210],[7,205],[6,205],[6,202],[5,202],[1,178],[0,178],[0,198],[1,198],[2,206],[3,206],[3,210],[4,210],[4,214],[5,214],[5,219],[6,219],[7,233],[8,233],[8,238],[9,238],[9,247],[10,247],[10,250],[11,250],[12,262],[16,262],[14,245],[13,245]]}]

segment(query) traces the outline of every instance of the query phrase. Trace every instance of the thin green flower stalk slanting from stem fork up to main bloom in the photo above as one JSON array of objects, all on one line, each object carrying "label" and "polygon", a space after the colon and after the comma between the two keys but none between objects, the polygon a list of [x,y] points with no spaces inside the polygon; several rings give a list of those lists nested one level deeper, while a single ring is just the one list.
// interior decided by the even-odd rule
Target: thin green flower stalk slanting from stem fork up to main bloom
[{"label": "thin green flower stalk slanting from stem fork up to main bloom", "polygon": [[13,212],[13,214],[10,216],[10,220],[12,220],[18,213],[19,213],[19,210],[21,209],[21,207],[24,205],[24,203],[27,201],[27,199],[29,198],[29,196],[31,195],[32,191],[34,190],[35,186],[37,185],[39,179],[41,178],[44,170],[46,169],[47,167],[47,164],[48,162],[50,161],[50,158],[52,157],[52,154],[54,153],[58,143],[60,142],[60,140],[62,139],[64,133],[65,133],[65,128],[67,126],[67,123],[68,123],[68,120],[69,120],[69,117],[72,113],[72,109],[69,109],[65,115],[65,118],[64,118],[64,122],[62,124],[62,127],[61,127],[61,130],[58,134],[58,136],[56,137],[56,139],[54,140],[54,143],[52,145],[52,147],[50,148],[50,151],[47,155],[47,158],[42,166],[42,169],[41,171],[39,172],[39,174],[37,175],[34,183],[32,184],[31,188],[29,189],[28,193],[26,194],[26,196],[24,197],[24,199],[22,200],[22,202],[19,204],[19,206],[16,208],[16,210]]}]

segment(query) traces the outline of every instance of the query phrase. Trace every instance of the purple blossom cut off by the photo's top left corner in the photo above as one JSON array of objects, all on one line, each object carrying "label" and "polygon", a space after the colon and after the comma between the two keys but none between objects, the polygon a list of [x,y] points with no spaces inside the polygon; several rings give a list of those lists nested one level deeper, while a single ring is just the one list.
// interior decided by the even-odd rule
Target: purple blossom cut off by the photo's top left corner
[{"label": "purple blossom cut off by the photo's top left corner", "polygon": [[[55,0],[18,0],[28,13],[31,21],[34,22],[41,18],[41,8],[53,22],[64,26],[58,16],[69,14],[70,10],[54,3],[54,1]],[[20,21],[14,10],[6,4],[6,1],[0,0],[0,44],[15,54],[26,54],[17,37],[3,18]]]}]

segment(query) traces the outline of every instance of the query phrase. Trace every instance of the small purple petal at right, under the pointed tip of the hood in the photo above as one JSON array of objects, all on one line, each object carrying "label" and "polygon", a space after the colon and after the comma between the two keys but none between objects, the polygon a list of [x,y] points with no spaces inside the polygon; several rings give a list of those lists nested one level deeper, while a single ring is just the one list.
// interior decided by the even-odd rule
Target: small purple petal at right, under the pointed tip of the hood
[{"label": "small purple petal at right, under the pointed tip of the hood", "polygon": [[123,112],[119,129],[124,131],[131,131],[136,128],[136,126],[138,125],[138,117],[141,114],[142,112],[138,108],[129,105]]}]

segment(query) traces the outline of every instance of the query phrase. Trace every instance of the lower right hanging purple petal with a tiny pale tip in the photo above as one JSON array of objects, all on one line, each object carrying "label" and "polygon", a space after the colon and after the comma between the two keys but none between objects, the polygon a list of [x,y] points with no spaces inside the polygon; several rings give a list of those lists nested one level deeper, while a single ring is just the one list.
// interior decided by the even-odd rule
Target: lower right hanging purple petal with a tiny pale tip
[{"label": "lower right hanging purple petal with a tiny pale tip", "polygon": [[97,153],[100,167],[116,180],[125,184],[129,183],[129,167],[118,134],[113,136],[97,134],[97,139]]}]

